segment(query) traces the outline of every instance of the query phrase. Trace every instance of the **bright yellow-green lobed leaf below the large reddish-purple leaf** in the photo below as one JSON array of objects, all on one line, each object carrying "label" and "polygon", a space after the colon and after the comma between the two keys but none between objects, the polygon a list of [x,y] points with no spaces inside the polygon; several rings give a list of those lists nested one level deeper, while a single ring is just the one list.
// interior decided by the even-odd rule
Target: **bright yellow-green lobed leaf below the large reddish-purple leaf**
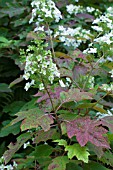
[{"label": "bright yellow-green lobed leaf below the large reddish-purple leaf", "polygon": [[90,155],[87,150],[88,148],[86,146],[81,147],[79,144],[65,147],[65,151],[68,151],[69,159],[72,159],[74,156],[76,156],[78,160],[81,160],[85,163],[88,163],[88,156]]}]

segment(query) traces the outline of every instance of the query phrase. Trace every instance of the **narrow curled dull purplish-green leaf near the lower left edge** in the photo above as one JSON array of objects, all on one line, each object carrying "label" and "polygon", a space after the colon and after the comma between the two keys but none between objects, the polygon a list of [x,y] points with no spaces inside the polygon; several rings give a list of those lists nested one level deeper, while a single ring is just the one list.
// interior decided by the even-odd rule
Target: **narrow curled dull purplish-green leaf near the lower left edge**
[{"label": "narrow curled dull purplish-green leaf near the lower left edge", "polygon": [[13,143],[9,144],[8,146],[9,150],[5,151],[3,155],[6,164],[11,160],[15,152],[17,152],[21,148],[21,146],[31,137],[32,137],[32,134],[27,132],[27,133],[20,135],[17,138],[16,144],[13,144]]}]

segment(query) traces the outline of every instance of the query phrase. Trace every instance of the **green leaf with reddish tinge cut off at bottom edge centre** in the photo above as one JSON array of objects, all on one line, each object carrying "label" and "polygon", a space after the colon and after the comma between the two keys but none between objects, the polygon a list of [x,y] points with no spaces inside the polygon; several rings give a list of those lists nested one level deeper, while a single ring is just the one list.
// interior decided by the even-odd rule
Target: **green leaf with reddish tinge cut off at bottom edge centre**
[{"label": "green leaf with reddish tinge cut off at bottom edge centre", "polygon": [[67,156],[59,156],[52,160],[48,170],[66,170],[66,164],[69,162]]}]

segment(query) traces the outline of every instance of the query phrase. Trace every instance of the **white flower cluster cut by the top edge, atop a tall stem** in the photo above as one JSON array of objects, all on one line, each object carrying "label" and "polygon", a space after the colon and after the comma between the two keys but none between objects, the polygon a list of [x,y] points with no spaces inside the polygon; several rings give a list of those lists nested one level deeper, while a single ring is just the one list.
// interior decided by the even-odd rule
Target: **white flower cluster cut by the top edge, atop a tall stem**
[{"label": "white flower cluster cut by the top edge, atop a tall stem", "polygon": [[35,20],[37,29],[43,21],[59,22],[59,20],[62,19],[61,12],[52,0],[34,0],[31,5],[33,10],[29,23],[32,23]]}]

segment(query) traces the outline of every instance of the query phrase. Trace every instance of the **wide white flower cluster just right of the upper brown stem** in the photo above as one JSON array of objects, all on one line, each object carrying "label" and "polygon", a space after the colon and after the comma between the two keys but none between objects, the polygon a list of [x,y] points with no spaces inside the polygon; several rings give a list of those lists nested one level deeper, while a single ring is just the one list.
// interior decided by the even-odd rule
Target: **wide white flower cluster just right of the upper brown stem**
[{"label": "wide white flower cluster just right of the upper brown stem", "polygon": [[90,30],[77,28],[65,28],[59,25],[58,30],[55,32],[54,37],[59,37],[59,40],[64,43],[65,46],[72,46],[77,48],[82,42],[86,42],[90,39]]}]

